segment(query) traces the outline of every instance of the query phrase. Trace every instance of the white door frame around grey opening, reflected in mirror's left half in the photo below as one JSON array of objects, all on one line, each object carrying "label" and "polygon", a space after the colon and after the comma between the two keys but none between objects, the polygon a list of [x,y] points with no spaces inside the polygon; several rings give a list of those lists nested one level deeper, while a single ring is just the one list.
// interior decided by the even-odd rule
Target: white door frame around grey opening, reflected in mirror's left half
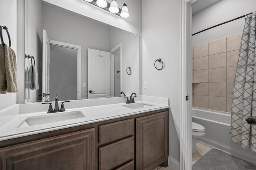
[{"label": "white door frame around grey opening, reflected in mirror's left half", "polygon": [[65,43],[65,42],[59,42],[55,40],[50,40],[50,45],[58,45],[61,47],[67,47],[72,49],[77,49],[77,99],[82,99],[82,81],[81,81],[81,75],[82,75],[82,59],[81,59],[81,45],[75,45],[71,43]]}]

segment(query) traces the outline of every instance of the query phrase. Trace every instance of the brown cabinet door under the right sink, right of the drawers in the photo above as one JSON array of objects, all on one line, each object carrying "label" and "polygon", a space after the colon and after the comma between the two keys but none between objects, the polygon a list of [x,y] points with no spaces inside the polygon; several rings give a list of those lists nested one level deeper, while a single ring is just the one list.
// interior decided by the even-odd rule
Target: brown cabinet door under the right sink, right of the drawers
[{"label": "brown cabinet door under the right sink, right of the drawers", "polygon": [[168,159],[168,111],[136,119],[136,169],[153,169]]}]

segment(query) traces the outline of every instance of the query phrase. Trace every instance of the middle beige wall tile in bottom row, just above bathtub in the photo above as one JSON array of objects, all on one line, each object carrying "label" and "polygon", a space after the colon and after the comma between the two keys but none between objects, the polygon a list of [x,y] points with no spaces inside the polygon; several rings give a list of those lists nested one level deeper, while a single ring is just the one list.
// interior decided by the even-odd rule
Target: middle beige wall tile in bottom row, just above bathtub
[{"label": "middle beige wall tile in bottom row, just above bathtub", "polygon": [[208,98],[209,108],[216,111],[226,111],[226,97],[214,97]]}]

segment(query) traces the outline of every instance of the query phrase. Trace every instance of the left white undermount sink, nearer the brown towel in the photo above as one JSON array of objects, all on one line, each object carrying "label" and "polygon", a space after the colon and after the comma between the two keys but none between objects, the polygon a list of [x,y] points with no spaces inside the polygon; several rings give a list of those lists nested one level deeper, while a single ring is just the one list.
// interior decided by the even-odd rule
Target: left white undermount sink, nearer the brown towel
[{"label": "left white undermount sink, nearer the brown towel", "polygon": [[81,111],[49,113],[47,115],[27,117],[24,121],[22,121],[22,123],[20,123],[20,125],[18,125],[17,128],[34,126],[34,125],[42,125],[46,123],[53,123],[53,122],[60,122],[60,121],[67,121],[67,120],[78,119],[82,117],[85,117],[85,116]]}]

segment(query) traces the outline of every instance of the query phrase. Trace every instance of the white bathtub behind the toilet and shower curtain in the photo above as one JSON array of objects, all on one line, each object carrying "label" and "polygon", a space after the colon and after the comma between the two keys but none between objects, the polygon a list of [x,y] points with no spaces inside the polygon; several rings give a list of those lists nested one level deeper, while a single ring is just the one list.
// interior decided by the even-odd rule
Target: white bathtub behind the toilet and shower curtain
[{"label": "white bathtub behind the toilet and shower curtain", "polygon": [[198,140],[256,164],[256,152],[241,148],[241,144],[230,140],[230,113],[192,107],[192,121],[206,130],[206,134]]}]

